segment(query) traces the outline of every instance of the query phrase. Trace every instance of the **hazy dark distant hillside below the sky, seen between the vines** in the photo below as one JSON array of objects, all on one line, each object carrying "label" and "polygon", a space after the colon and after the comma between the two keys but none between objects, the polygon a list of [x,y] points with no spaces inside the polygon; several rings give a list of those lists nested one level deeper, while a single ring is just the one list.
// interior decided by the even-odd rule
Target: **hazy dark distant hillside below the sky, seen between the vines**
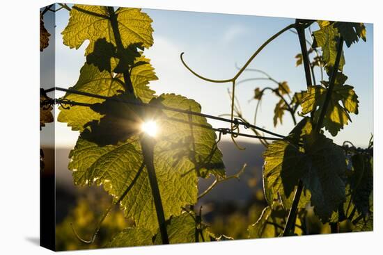
[{"label": "hazy dark distant hillside below the sky, seen between the vines", "polygon": [[[241,146],[245,150],[239,150],[233,145],[233,142],[222,141],[219,143],[219,149],[224,154],[224,163],[226,165],[227,175],[230,176],[240,170],[244,163],[247,167],[240,177],[240,180],[230,179],[228,181],[219,183],[214,190],[208,195],[205,195],[198,202],[201,204],[244,204],[253,197],[253,191],[262,189],[262,165],[263,158],[261,157],[265,147],[260,144],[241,142]],[[44,149],[44,148],[43,148]],[[68,170],[70,149],[58,148],[56,149],[56,211],[58,213],[58,222],[61,215],[64,216],[70,206],[75,206],[76,197],[81,193],[89,192],[89,188],[78,188],[73,185],[72,172]],[[44,149],[45,153],[45,167],[46,170],[54,166],[54,151],[53,149]],[[256,178],[256,183],[254,183]],[[199,192],[203,192],[213,179],[201,179],[199,184]],[[249,181],[253,182],[252,189],[249,187]],[[100,188],[91,188],[97,190]]]}]

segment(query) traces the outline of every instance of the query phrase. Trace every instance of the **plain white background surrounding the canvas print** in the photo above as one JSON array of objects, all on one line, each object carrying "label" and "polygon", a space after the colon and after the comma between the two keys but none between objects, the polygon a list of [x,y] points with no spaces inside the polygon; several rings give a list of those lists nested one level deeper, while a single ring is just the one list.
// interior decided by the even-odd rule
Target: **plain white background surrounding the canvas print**
[{"label": "plain white background surrounding the canvas print", "polygon": [[[380,1],[208,1],[87,0],[68,1],[110,6],[194,10],[307,19],[374,23],[374,232],[299,238],[272,238],[99,249],[68,254],[376,254],[382,245],[382,7]],[[39,236],[39,8],[51,1],[1,1],[0,15],[0,253],[49,254]],[[380,84],[380,85],[379,85]],[[380,248],[379,248],[380,247]]]}]

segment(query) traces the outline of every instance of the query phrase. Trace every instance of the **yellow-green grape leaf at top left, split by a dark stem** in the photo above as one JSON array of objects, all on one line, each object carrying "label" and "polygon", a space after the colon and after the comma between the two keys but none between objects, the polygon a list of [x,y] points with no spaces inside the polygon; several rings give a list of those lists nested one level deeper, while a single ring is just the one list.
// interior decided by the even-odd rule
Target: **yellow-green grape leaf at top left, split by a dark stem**
[{"label": "yellow-green grape leaf at top left, split by a dark stem", "polygon": [[[140,42],[147,49],[152,46],[152,19],[146,13],[142,13],[138,8],[118,8],[116,15],[124,48]],[[100,38],[105,38],[107,42],[116,46],[109,13],[104,6],[73,6],[68,25],[62,35],[63,43],[71,49],[79,49],[85,40],[89,40],[85,55],[93,52],[95,42]]]}]

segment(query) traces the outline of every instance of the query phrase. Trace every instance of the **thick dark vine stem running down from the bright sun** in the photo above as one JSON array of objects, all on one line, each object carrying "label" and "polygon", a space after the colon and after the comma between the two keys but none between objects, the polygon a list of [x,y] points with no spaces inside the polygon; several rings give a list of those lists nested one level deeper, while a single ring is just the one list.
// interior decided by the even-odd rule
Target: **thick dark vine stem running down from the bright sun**
[{"label": "thick dark vine stem running down from the bright sun", "polygon": [[155,174],[154,159],[155,139],[149,135],[143,134],[141,138],[141,148],[143,154],[143,162],[148,170],[148,177],[150,188],[152,189],[153,200],[155,203],[155,211],[157,213],[157,220],[159,225],[159,232],[161,233],[162,244],[169,244],[169,237],[166,231],[166,222],[164,215],[164,207],[162,206],[161,195],[159,194],[157,176]]}]

